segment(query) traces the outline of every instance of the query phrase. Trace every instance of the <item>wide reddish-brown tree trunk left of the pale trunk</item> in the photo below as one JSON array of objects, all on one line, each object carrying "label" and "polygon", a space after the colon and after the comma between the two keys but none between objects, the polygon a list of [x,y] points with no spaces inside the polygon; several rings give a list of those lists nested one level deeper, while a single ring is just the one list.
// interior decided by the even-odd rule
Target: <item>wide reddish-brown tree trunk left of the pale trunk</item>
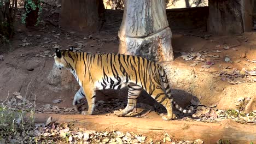
[{"label": "wide reddish-brown tree trunk left of the pale trunk", "polygon": [[74,31],[96,32],[101,27],[103,14],[102,0],[62,0],[61,26]]}]

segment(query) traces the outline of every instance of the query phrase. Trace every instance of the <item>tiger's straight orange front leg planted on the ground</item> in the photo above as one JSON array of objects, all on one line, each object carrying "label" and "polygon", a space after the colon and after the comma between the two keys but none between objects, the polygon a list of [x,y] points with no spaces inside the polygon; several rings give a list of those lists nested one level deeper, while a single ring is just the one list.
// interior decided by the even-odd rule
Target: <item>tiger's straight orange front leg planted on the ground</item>
[{"label": "tiger's straight orange front leg planted on the ground", "polygon": [[82,115],[92,115],[92,111],[95,108],[95,98],[96,92],[94,88],[91,88],[91,85],[84,86],[84,94],[88,103],[88,111],[82,111]]}]

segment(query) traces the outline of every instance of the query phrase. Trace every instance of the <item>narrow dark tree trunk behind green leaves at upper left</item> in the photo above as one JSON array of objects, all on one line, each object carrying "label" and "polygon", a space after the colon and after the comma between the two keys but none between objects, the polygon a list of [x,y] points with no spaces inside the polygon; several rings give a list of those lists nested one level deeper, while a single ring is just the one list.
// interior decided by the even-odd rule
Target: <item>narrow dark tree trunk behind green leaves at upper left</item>
[{"label": "narrow dark tree trunk behind green leaves at upper left", "polygon": [[[34,2],[35,5],[39,4],[39,0],[32,0]],[[26,5],[28,5],[26,7]],[[27,1],[24,2],[24,6],[25,6],[25,11],[29,11],[27,13],[27,17],[26,17],[26,26],[35,26],[37,23],[37,19],[38,19],[38,12],[39,12],[39,8],[37,7],[35,10],[33,10],[31,8],[31,6],[27,3]],[[26,13],[26,12],[25,12]]]}]

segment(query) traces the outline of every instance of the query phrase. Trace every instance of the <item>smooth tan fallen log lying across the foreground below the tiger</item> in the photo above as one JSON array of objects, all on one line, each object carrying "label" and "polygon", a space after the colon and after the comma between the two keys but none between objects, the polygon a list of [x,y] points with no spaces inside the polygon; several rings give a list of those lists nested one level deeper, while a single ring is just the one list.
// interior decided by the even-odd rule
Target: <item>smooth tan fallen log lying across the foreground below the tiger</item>
[{"label": "smooth tan fallen log lying across the foreground below the tiger", "polygon": [[135,133],[156,135],[168,133],[175,139],[196,140],[216,143],[229,140],[230,143],[256,143],[256,125],[240,124],[225,119],[222,123],[203,123],[187,121],[164,121],[161,118],[117,117],[105,115],[60,115],[36,113],[35,122],[45,122],[48,117],[56,122],[75,122],[79,127],[98,131],[133,131]]}]

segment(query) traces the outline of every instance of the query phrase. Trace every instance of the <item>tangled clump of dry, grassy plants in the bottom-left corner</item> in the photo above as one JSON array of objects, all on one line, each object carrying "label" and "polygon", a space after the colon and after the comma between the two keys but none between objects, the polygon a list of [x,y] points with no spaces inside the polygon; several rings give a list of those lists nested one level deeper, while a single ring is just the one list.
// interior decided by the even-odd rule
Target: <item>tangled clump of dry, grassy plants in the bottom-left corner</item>
[{"label": "tangled clump of dry, grassy plants in the bottom-left corner", "polygon": [[[7,99],[0,103],[0,143],[33,143],[34,104],[18,108],[18,101]],[[27,110],[30,117],[25,117]]]}]

